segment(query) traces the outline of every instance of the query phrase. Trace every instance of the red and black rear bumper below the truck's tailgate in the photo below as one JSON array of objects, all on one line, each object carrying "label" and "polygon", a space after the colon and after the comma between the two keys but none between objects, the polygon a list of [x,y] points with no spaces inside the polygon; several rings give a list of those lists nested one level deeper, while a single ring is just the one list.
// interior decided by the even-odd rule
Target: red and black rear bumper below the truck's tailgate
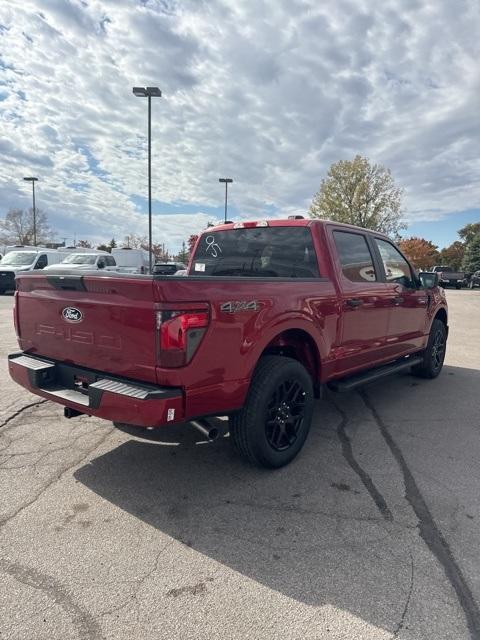
[{"label": "red and black rear bumper below the truck's tailgate", "polygon": [[132,382],[100,371],[31,356],[8,356],[11,377],[32,393],[88,415],[143,427],[184,419],[181,389]]}]

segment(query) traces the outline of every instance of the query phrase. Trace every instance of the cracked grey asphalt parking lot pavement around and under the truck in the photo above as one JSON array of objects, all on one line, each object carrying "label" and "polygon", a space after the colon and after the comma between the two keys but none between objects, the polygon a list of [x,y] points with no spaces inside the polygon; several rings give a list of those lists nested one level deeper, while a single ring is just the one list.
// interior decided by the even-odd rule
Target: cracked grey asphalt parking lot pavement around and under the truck
[{"label": "cracked grey asphalt parking lot pavement around and under the truck", "polygon": [[0,638],[480,638],[480,290],[446,366],[328,393],[264,471],[228,437],[153,441],[10,380],[0,297]]}]

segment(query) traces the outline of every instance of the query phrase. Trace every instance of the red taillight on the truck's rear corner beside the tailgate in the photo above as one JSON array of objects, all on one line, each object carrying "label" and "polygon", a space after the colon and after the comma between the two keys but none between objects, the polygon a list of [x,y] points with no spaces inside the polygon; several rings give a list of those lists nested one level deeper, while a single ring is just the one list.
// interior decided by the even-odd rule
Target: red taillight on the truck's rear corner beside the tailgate
[{"label": "red taillight on the truck's rear corner beside the tailgate", "polygon": [[159,365],[188,364],[202,341],[208,321],[207,309],[157,311]]}]

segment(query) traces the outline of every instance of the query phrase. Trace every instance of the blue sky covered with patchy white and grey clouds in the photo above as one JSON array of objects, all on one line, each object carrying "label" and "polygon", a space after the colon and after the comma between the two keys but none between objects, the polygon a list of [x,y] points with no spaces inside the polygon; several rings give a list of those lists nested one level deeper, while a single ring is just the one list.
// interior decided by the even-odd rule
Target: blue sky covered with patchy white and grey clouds
[{"label": "blue sky covered with patchy white and grey clouds", "polygon": [[480,220],[477,0],[2,0],[0,216],[24,175],[58,236],[172,250],[223,215],[304,213],[329,165],[391,168],[409,233]]}]

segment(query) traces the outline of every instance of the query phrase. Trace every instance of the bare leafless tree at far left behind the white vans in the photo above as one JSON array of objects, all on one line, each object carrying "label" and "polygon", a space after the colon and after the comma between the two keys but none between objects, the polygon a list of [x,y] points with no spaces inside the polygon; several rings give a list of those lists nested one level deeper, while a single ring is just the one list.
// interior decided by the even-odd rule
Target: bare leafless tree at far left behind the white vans
[{"label": "bare leafless tree at far left behind the white vans", "polygon": [[[50,229],[47,214],[42,209],[36,209],[35,214],[37,245],[51,242],[55,234]],[[5,220],[0,220],[0,243],[31,245],[33,241],[33,209],[10,209]]]}]

